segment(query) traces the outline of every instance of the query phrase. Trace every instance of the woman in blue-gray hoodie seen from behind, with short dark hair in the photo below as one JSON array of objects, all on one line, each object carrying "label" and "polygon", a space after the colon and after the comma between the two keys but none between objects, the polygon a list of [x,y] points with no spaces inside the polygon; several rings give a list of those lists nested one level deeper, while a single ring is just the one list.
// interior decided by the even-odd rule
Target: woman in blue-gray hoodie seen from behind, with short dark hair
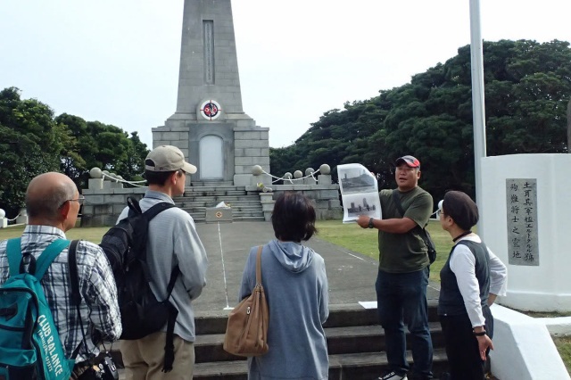
[{"label": "woman in blue-gray hoodie seen from behind, with short dark hair", "polygon": [[[277,239],[261,253],[261,283],[269,309],[268,345],[248,358],[248,379],[327,379],[329,360],[323,323],[329,315],[325,261],[302,245],[316,232],[315,210],[301,193],[277,198],[271,217]],[[246,260],[239,301],[256,283],[256,254]]]}]

